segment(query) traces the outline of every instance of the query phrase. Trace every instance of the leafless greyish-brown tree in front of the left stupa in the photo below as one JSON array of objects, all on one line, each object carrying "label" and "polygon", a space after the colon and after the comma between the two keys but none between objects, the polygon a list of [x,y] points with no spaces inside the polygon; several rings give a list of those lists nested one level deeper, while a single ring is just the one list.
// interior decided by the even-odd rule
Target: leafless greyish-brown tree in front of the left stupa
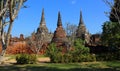
[{"label": "leafless greyish-brown tree in front of the left stupa", "polygon": [[29,37],[27,40],[27,44],[35,54],[38,54],[40,49],[43,47],[43,44],[47,42],[48,42],[48,37],[46,37],[44,33],[41,34],[33,33],[32,36]]}]

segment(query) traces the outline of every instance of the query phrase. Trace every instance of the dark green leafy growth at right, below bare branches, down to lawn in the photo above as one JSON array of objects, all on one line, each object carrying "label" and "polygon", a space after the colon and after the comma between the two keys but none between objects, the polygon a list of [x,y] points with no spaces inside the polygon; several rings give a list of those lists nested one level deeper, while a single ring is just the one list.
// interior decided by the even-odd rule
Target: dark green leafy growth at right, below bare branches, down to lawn
[{"label": "dark green leafy growth at right, below bare branches, down to lawn", "polygon": [[120,60],[120,24],[118,22],[105,22],[102,32],[102,43],[108,47],[107,53],[97,55],[99,61]]}]

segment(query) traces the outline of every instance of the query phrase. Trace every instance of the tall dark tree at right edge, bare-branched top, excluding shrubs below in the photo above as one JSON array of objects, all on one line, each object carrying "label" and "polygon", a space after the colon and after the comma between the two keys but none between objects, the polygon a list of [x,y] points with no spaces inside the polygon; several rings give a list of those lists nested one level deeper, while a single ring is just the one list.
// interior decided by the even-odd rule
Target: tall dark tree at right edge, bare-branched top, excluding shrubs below
[{"label": "tall dark tree at right edge, bare-branched top, excluding shrubs below", "polygon": [[104,0],[110,6],[110,21],[103,25],[102,42],[109,47],[120,49],[120,0]]}]

